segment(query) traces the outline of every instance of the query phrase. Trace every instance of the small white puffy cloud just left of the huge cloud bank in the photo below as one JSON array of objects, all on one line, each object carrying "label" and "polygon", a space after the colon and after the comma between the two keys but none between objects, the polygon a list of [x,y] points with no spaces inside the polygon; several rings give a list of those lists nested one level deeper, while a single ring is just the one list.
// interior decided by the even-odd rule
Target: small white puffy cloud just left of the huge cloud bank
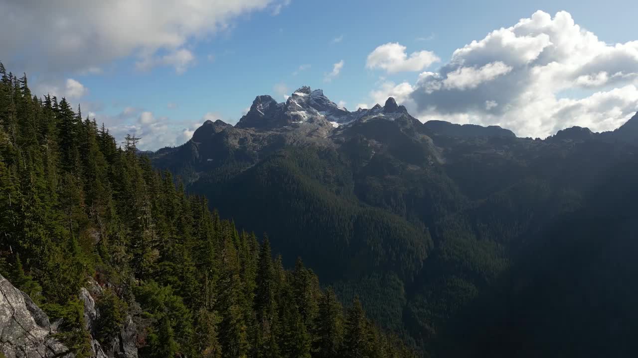
[{"label": "small white puffy cloud just left of the huge cloud bank", "polygon": [[434,62],[441,61],[434,52],[419,51],[408,56],[406,47],[399,43],[386,43],[367,55],[366,68],[384,69],[388,73],[421,71]]}]

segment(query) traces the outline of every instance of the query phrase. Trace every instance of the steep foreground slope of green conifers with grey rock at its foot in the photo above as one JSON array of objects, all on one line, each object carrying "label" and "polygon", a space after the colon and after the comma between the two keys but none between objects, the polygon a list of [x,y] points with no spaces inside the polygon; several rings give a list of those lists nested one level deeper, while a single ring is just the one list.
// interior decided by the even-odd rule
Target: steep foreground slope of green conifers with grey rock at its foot
[{"label": "steep foreground slope of green conifers with grey rock at its foot", "polygon": [[344,310],[300,259],[284,269],[266,236],[152,169],[135,138],[120,147],[0,76],[0,356],[413,356],[358,299]]}]

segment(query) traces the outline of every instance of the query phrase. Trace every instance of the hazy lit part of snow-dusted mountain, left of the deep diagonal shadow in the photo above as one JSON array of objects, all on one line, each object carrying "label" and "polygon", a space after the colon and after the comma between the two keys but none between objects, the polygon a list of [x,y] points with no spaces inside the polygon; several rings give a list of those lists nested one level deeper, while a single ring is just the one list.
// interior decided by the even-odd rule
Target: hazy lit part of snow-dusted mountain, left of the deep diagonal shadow
[{"label": "hazy lit part of snow-dusted mountain, left of the deep diagonal shadow", "polygon": [[[444,356],[441,344],[460,344],[450,325],[512,269],[530,266],[526,253],[556,220],[592,205],[587,193],[631,162],[636,141],[625,138],[638,138],[638,117],[614,132],[531,140],[421,124],[392,98],[349,112],[302,87],[286,103],[260,103],[235,127],[209,129],[154,164],[188,163],[172,169],[188,190],[268,231],[276,251],[303,254],[343,297],[359,294],[385,327]],[[306,227],[311,234],[300,234]]]}]

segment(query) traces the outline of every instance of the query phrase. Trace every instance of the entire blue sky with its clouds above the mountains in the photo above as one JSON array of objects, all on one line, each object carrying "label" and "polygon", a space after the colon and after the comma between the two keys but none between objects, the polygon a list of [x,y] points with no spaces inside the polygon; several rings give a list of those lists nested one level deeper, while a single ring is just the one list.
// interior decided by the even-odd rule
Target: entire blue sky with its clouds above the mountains
[{"label": "entire blue sky with its clouds above the mountains", "polygon": [[140,148],[302,85],[545,138],[638,111],[637,1],[0,0],[0,61]]}]

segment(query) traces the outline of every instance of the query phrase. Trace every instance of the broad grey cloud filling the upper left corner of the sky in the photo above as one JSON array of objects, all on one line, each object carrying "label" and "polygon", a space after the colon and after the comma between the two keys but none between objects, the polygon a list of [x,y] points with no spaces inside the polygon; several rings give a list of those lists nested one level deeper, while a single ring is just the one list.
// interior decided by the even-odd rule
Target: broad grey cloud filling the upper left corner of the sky
[{"label": "broad grey cloud filling the upper left corner of the sky", "polygon": [[8,68],[60,73],[96,71],[135,55],[142,63],[170,64],[180,72],[192,62],[185,49],[190,40],[226,29],[243,14],[280,11],[287,4],[290,0],[1,1],[6,16],[0,22],[0,58]]}]

